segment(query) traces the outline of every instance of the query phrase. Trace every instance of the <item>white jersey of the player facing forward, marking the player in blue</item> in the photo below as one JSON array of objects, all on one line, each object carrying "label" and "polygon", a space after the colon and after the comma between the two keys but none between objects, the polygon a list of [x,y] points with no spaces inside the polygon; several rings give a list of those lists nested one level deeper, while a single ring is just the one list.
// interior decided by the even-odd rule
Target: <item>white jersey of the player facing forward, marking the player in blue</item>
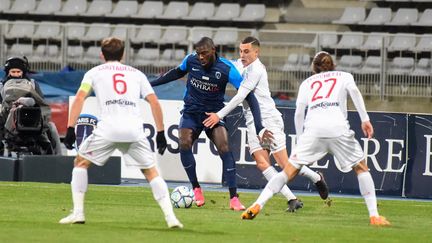
[{"label": "white jersey of the player facing forward, marking the player in blue", "polygon": [[[259,58],[257,58],[247,67],[243,67],[240,59],[234,61],[233,63],[234,66],[242,74],[243,81],[241,83],[241,86],[254,92],[261,111],[261,118],[266,119],[272,118],[274,116],[281,116],[282,114],[277,110],[276,104],[271,97],[267,70],[264,64],[261,63]],[[248,106],[244,105],[244,107],[247,107],[246,113],[252,114]]]}]

